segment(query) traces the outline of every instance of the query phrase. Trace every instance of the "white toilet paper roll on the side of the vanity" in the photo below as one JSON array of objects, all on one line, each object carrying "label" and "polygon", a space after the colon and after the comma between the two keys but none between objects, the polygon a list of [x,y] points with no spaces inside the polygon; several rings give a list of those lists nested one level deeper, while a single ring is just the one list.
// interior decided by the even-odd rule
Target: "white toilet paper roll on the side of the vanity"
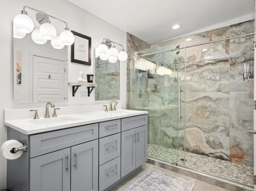
[{"label": "white toilet paper roll on the side of the vanity", "polygon": [[12,154],[10,151],[13,148],[20,148],[22,146],[23,146],[22,143],[18,142],[17,140],[11,139],[2,144],[0,152],[6,159],[11,159],[11,160],[16,159],[22,155],[23,151],[19,151],[14,154]]}]

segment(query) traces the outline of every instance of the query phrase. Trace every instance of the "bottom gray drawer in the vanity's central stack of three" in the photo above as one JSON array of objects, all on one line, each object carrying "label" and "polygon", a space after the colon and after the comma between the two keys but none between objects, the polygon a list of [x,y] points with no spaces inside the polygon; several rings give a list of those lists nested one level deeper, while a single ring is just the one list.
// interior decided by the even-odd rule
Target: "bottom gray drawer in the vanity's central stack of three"
[{"label": "bottom gray drawer in the vanity's central stack of three", "polygon": [[99,191],[102,191],[120,179],[120,157],[99,167]]}]

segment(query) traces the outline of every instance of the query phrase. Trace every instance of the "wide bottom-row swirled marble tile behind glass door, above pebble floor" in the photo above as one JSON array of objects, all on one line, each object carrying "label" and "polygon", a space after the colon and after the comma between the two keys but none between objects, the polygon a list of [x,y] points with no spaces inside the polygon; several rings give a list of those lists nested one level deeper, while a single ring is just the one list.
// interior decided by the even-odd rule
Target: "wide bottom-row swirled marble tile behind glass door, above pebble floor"
[{"label": "wide bottom-row swirled marble tile behind glass door, above pebble floor", "polygon": [[229,160],[229,127],[187,122],[186,150]]}]

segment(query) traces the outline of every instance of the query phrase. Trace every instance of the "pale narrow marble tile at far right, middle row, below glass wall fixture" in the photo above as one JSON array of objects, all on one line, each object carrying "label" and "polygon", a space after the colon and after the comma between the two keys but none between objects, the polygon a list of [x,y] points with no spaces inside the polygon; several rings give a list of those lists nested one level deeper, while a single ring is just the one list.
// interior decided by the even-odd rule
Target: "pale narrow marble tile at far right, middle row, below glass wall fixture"
[{"label": "pale narrow marble tile at far right, middle row, below glass wall fixture", "polygon": [[252,92],[230,92],[230,126],[250,129],[253,127]]}]

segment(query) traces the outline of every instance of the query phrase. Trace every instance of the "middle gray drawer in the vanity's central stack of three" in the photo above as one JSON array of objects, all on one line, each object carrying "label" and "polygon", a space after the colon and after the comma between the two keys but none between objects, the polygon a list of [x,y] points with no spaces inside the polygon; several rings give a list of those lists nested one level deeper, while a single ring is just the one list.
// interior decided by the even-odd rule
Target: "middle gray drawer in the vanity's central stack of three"
[{"label": "middle gray drawer in the vanity's central stack of three", "polygon": [[100,138],[99,164],[102,165],[121,154],[121,133]]}]

